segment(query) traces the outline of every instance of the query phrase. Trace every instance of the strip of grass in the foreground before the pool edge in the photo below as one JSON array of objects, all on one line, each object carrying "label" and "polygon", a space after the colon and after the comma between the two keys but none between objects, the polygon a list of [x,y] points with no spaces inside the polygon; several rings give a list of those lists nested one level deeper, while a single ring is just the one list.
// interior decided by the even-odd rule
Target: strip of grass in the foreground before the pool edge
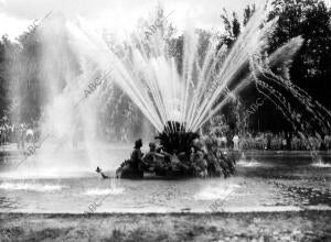
[{"label": "strip of grass in the foreground before the pool edge", "polygon": [[[12,241],[331,241],[331,211],[0,213]],[[2,234],[3,235],[3,234]],[[0,241],[6,241],[0,237]],[[9,240],[7,240],[9,241]]]}]

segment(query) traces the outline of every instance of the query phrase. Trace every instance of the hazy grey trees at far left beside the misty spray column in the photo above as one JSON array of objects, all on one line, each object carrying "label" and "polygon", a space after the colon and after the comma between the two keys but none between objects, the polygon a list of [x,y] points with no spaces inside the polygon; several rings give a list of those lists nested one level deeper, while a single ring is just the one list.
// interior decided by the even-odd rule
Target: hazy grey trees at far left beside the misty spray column
[{"label": "hazy grey trees at far left beside the misty spray column", "polygon": [[[53,30],[54,32],[56,30]],[[65,34],[56,35],[56,46],[61,46],[61,55],[55,50],[52,52],[54,58],[45,62],[45,46],[42,43],[40,29],[29,30],[26,33],[17,37],[15,42],[2,37],[4,50],[6,86],[8,95],[7,111],[13,122],[31,122],[40,119],[44,105],[52,98],[51,88],[63,89],[66,79],[66,69],[72,68],[78,72],[76,59],[74,59]],[[1,55],[3,55],[1,53]],[[47,70],[43,72],[47,67]],[[76,73],[77,74],[77,73]],[[75,75],[75,74],[74,74]],[[50,78],[57,78],[60,86],[55,87]],[[46,81],[47,80],[47,81]],[[53,91],[53,90],[52,90]],[[1,102],[2,103],[2,102]]]}]

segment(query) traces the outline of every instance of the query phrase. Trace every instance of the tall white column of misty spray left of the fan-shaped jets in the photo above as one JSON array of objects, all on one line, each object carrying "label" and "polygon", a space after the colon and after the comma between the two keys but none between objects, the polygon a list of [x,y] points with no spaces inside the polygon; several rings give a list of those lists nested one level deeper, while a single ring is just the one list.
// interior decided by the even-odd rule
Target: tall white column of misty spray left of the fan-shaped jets
[{"label": "tall white column of misty spray left of the fan-shaped jets", "polygon": [[[99,109],[104,106],[99,99],[100,90],[109,95],[111,85],[109,75],[104,77],[103,69],[109,70],[109,58],[104,55],[105,42],[97,42],[93,31],[88,34],[77,23],[67,21],[61,13],[53,13],[34,33],[41,43],[40,55],[33,59],[34,65],[21,65],[24,52],[19,53],[11,66],[13,75],[23,68],[26,75],[20,78],[30,79],[35,73],[40,79],[42,99],[41,140],[45,139],[40,148],[31,157],[22,157],[17,170],[7,172],[6,177],[60,177],[83,174],[94,170],[96,165],[108,162],[115,167],[122,160],[109,164],[109,151],[104,151],[97,140]],[[32,69],[32,70],[31,70]],[[13,76],[14,77],[14,76]],[[102,77],[102,88],[96,88],[88,97],[88,85]],[[21,98],[19,90],[13,89],[13,97]],[[107,92],[108,91],[108,92]],[[20,120],[21,112],[12,120]],[[75,132],[83,133],[79,151],[70,148]],[[83,152],[82,152],[83,151]],[[26,160],[26,161],[25,161]],[[23,162],[21,162],[23,161]]]}]

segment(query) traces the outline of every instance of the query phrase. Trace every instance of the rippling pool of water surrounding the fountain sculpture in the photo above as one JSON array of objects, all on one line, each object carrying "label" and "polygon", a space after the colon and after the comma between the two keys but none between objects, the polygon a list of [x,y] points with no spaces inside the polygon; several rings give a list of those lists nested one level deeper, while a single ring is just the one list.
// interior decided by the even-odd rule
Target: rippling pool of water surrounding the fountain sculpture
[{"label": "rippling pool of water surrounding the fountain sculpture", "polygon": [[[100,163],[114,177],[115,167],[128,156],[129,147],[106,148],[104,154],[98,153],[109,157],[108,163],[105,160]],[[0,212],[331,209],[331,161],[328,153],[313,162],[305,152],[246,152],[237,162],[236,175],[231,178],[179,180],[102,179],[94,172],[95,163],[87,164],[85,156],[84,151],[68,152],[61,164],[71,164],[74,160],[79,161],[78,165],[60,167],[43,164],[10,170],[2,163]],[[17,160],[11,155],[7,163]],[[42,157],[44,160],[47,158]]]}]

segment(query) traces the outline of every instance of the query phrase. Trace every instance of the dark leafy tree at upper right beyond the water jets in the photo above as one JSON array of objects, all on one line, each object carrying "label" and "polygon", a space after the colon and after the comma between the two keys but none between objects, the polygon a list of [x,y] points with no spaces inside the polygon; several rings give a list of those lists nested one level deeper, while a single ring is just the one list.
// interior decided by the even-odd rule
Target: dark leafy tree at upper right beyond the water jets
[{"label": "dark leafy tree at upper right beyond the water jets", "polygon": [[331,74],[331,11],[321,0],[275,0],[269,18],[278,16],[270,52],[291,37],[305,43],[293,59],[291,80],[331,108],[328,76]]}]

